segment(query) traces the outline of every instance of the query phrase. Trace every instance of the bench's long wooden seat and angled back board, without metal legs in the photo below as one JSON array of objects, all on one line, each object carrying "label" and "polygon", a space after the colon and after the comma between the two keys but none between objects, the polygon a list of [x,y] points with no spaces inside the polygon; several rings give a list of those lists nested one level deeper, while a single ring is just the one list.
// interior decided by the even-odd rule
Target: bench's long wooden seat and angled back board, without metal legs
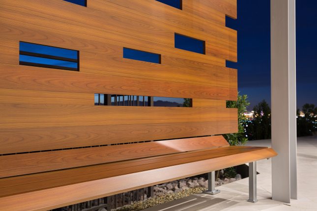
[{"label": "bench's long wooden seat and angled back board, without metal legs", "polygon": [[222,136],[2,156],[0,208],[50,210],[274,156]]}]

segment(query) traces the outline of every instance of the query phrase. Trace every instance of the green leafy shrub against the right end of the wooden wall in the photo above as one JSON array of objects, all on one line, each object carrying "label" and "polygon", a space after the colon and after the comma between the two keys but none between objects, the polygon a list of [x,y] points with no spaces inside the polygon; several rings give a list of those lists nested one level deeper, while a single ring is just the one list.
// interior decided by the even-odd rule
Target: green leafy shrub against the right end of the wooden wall
[{"label": "green leafy shrub against the right end of the wooden wall", "polygon": [[227,101],[228,108],[237,108],[238,109],[238,132],[224,134],[224,137],[229,142],[231,146],[244,145],[248,138],[245,135],[245,129],[243,122],[247,120],[244,113],[247,111],[247,106],[250,105],[247,100],[247,95],[239,95],[237,101]]}]

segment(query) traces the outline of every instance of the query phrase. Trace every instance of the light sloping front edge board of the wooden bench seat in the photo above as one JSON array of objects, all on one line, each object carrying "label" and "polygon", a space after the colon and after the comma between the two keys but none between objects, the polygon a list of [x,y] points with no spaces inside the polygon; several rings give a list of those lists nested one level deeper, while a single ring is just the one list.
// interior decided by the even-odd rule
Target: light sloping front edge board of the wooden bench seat
[{"label": "light sloping front edge board of the wooden bench seat", "polygon": [[6,196],[0,198],[0,206],[3,211],[45,211],[274,156],[276,153],[272,149],[258,148],[251,152]]}]

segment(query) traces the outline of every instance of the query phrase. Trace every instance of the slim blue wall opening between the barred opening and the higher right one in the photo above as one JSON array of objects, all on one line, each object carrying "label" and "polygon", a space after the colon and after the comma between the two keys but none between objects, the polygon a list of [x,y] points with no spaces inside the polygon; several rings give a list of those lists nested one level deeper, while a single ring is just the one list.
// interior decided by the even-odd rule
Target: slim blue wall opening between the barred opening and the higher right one
[{"label": "slim blue wall opening between the barred opening and the higher right one", "polygon": [[123,48],[123,58],[161,64],[161,54]]}]

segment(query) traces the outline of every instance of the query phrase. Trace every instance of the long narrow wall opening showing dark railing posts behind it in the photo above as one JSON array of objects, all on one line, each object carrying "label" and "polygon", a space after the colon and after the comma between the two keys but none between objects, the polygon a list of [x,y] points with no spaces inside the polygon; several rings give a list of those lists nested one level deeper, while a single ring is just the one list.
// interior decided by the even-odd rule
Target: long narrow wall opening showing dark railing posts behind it
[{"label": "long narrow wall opening showing dark railing posts behind it", "polygon": [[158,106],[158,107],[192,107],[192,99],[150,97],[138,95],[94,94],[95,106]]}]

